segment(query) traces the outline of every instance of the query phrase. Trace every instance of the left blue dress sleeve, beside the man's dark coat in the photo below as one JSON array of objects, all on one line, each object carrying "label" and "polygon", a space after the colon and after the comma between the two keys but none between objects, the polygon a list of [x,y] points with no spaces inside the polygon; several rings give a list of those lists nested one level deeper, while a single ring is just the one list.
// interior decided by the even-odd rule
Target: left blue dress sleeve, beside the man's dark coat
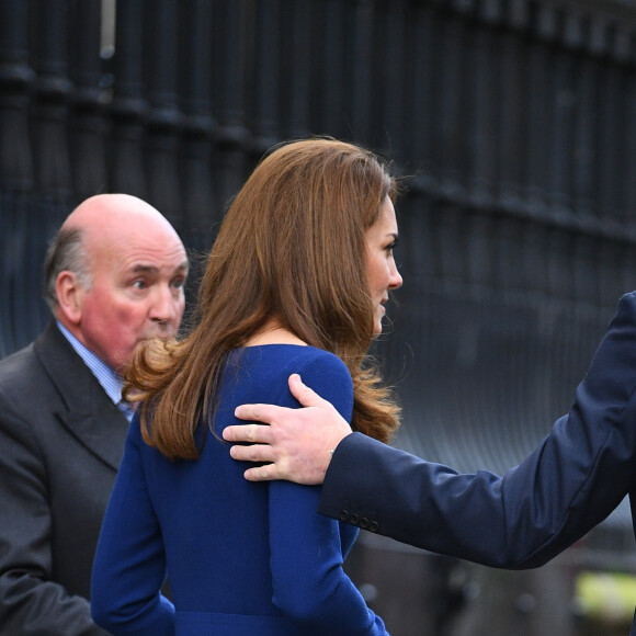
[{"label": "left blue dress sleeve, beside the man's dark coat", "polygon": [[166,557],[146,488],[143,443],[135,417],[93,561],[91,613],[115,635],[172,636],[174,607],[160,593]]}]

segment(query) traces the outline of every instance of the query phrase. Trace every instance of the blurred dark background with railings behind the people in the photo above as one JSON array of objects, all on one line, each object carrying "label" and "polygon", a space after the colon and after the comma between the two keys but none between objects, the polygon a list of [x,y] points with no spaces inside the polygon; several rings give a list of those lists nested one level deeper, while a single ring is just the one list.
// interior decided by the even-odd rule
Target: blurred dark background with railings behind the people
[{"label": "blurred dark background with railings behind the people", "polygon": [[[0,356],[47,321],[44,252],[80,200],[138,195],[204,252],[269,147],[331,135],[409,186],[377,343],[395,443],[503,472],[636,288],[635,73],[635,0],[0,0]],[[362,533],[348,571],[396,636],[607,635],[636,597],[598,626],[582,575],[635,556],[624,502],[537,570]]]}]

